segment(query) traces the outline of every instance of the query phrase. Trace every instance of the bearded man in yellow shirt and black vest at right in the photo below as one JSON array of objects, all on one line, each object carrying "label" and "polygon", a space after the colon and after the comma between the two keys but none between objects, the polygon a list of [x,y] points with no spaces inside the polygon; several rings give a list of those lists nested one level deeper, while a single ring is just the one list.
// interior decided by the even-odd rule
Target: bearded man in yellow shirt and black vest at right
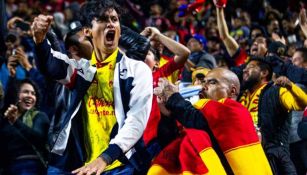
[{"label": "bearded man in yellow shirt and black vest at right", "polygon": [[307,95],[286,77],[270,82],[272,68],[263,58],[252,58],[243,71],[246,91],[239,98],[261,133],[262,145],[276,174],[296,174],[289,154],[288,112],[303,110]]}]

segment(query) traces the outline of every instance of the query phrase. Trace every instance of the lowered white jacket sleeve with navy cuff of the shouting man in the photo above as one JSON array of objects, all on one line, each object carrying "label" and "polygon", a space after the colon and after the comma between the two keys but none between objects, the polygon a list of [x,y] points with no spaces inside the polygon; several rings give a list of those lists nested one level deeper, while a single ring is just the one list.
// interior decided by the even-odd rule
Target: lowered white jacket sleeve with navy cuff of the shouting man
[{"label": "lowered white jacket sleeve with navy cuff of the shouting man", "polygon": [[108,164],[118,159],[122,153],[128,152],[141,138],[151,112],[153,97],[152,72],[144,62],[138,62],[130,91],[129,110],[123,126],[110,141],[102,157],[110,158]]}]

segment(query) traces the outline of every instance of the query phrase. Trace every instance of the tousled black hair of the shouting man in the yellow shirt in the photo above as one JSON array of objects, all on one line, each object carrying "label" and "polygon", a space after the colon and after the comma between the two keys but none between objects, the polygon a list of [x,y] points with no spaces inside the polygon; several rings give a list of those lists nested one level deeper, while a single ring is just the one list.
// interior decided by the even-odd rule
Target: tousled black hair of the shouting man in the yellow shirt
[{"label": "tousled black hair of the shouting man in the yellow shirt", "polygon": [[80,22],[82,26],[91,27],[94,18],[103,19],[105,13],[110,9],[114,9],[118,17],[124,12],[124,9],[113,0],[94,0],[86,2],[80,9]]}]

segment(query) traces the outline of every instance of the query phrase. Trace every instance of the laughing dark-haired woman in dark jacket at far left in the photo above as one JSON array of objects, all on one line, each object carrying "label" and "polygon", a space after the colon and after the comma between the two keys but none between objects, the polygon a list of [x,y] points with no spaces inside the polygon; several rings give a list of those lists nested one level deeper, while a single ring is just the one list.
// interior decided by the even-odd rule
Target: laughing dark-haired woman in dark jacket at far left
[{"label": "laughing dark-haired woman in dark jacket at far left", "polygon": [[39,89],[31,80],[10,79],[4,117],[0,118],[4,174],[46,174],[49,119],[38,109],[39,98]]}]

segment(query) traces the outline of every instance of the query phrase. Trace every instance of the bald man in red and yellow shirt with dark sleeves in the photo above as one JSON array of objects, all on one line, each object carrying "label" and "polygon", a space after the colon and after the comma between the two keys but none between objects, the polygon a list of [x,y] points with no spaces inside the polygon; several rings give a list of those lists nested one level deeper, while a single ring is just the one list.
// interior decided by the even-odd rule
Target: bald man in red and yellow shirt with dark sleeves
[{"label": "bald man in red and yellow shirt with dark sleeves", "polygon": [[[200,96],[194,106],[178,93],[178,89],[160,79],[155,94],[161,105],[186,128],[207,131],[221,160],[227,159],[227,174],[272,174],[249,112],[236,102],[240,91],[238,77],[222,68],[211,70],[202,81]],[[244,152],[244,153],[243,153]]]}]

